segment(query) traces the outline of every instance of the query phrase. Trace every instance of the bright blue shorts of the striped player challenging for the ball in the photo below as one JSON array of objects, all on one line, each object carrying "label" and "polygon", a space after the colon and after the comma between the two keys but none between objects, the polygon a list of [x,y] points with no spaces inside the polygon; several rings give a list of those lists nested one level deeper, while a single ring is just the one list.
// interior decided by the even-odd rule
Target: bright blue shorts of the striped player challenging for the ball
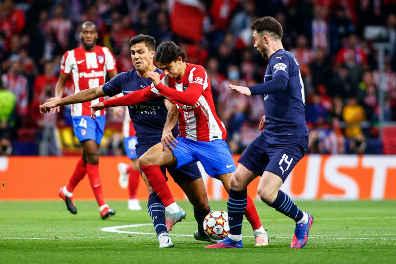
[{"label": "bright blue shorts of the striped player challenging for the ball", "polygon": [[225,140],[196,141],[185,137],[177,137],[173,155],[177,158],[179,168],[191,162],[200,161],[210,177],[235,171],[234,159]]}]

